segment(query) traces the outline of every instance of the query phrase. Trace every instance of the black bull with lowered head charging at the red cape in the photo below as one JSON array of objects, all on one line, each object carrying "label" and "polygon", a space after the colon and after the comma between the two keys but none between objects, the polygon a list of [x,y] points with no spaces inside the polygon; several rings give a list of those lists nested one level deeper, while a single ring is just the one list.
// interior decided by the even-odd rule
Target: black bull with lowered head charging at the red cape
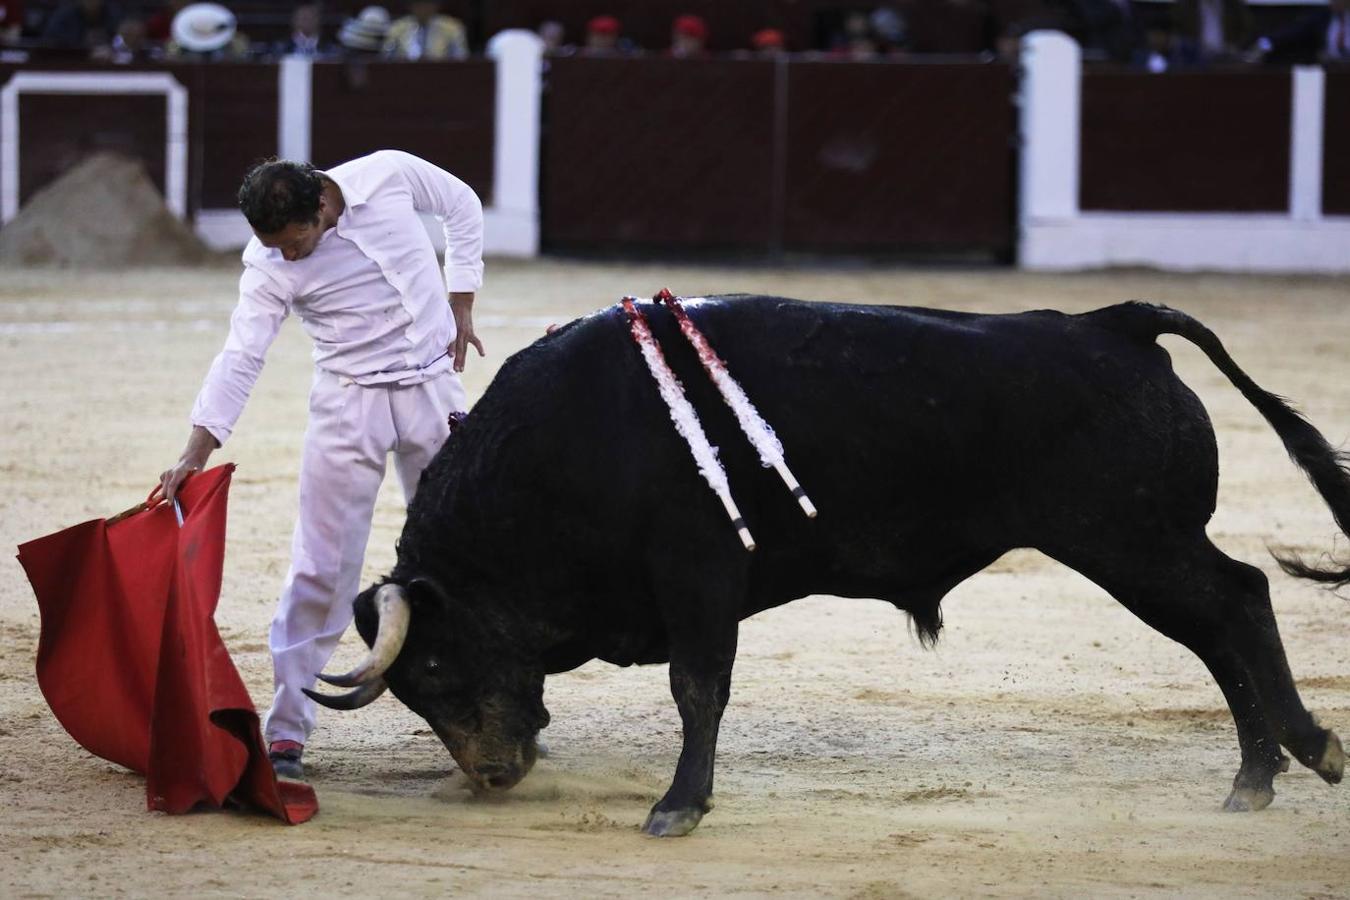
[{"label": "black bull with lowered head charging at the red cape", "polygon": [[[809,594],[909,613],[1014,548],[1081,572],[1208,667],[1242,762],[1226,801],[1257,810],[1288,768],[1330,783],[1345,754],[1304,708],[1266,578],[1206,536],[1218,449],[1200,401],[1154,339],[1199,345],[1280,434],[1341,530],[1350,474],[1193,318],[1125,304],[1066,316],[714,298],[690,313],[775,428],[819,507],[760,466],[664,309],[643,305],[759,548],[701,479],[622,312],[578,320],[509,359],[423,476],[385,582],[356,599],[371,656],[335,683],[387,684],[463,770],[509,788],[547,725],[544,676],[591,658],[670,663],[684,745],[649,834],[686,834],[713,789],[737,623]],[[1284,557],[1287,572],[1350,572]]]}]

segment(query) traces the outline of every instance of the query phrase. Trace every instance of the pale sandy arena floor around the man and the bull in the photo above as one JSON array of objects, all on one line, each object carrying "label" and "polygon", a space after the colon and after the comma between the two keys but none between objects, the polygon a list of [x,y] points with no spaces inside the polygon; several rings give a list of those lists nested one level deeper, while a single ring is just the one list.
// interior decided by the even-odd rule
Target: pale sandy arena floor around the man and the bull
[{"label": "pale sandy arena floor around the man and the bull", "polygon": [[[186,437],[235,277],[0,273],[0,544],[144,497]],[[988,312],[1168,302],[1332,443],[1350,437],[1345,279],[490,263],[477,306],[489,358],[471,360],[470,397],[549,321],[663,285]],[[1350,738],[1350,606],[1278,573],[1265,552],[1331,549],[1331,517],[1256,410],[1197,349],[1166,343],[1219,436],[1211,534],[1270,573],[1304,702]],[[217,621],[259,702],[309,367],[288,322],[216,455],[239,464]],[[370,576],[392,563],[401,525],[390,478]],[[679,750],[664,667],[598,663],[549,679],[552,756],[497,801],[471,797],[392,698],[325,714],[308,754],[323,811],[288,828],[243,812],[146,812],[139,776],[80,749],[38,692],[36,606],[11,561],[0,571],[0,896],[1350,896],[1350,792],[1296,766],[1269,810],[1220,812],[1238,749],[1218,688],[1100,590],[1019,552],[945,610],[933,652],[875,602],[811,598],[747,622],[717,808],[688,838],[637,831]],[[358,644],[350,634],[335,665]]]}]

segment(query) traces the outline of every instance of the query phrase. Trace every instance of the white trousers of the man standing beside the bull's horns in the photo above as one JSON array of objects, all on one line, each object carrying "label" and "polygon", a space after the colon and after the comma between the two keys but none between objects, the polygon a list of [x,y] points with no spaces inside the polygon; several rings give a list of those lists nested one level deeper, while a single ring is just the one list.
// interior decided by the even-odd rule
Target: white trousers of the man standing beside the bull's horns
[{"label": "white trousers of the man standing beside the bull's horns", "polygon": [[410,503],[417,479],[450,434],[446,420],[466,409],[455,372],[406,387],[362,387],[323,370],[315,374],[300,517],[269,640],[275,685],[263,721],[269,742],[304,743],[315,729],[315,703],[301,688],[315,685],[315,673],[351,623],[389,453]]}]

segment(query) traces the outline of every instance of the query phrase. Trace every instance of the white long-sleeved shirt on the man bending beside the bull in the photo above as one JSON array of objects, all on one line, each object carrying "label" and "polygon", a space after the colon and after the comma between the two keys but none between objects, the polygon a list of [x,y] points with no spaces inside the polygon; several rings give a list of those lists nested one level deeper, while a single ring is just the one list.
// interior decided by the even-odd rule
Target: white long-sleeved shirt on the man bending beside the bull
[{"label": "white long-sleeved shirt on the man bending beside the bull", "polygon": [[[244,248],[230,336],[192,410],[192,424],[221,444],[292,310],[320,368],[360,385],[416,385],[451,367],[447,285],[451,293],[482,286],[483,209],[459,178],[398,150],[324,174],[344,208],[309,256],[286,262],[256,237]],[[446,228],[444,279],[418,212]]]}]

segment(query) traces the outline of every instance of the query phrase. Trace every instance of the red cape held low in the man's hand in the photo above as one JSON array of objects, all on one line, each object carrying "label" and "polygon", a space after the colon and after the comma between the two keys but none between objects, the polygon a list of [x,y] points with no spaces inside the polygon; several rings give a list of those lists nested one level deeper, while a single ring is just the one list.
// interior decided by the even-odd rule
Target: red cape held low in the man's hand
[{"label": "red cape held low in the man's hand", "polygon": [[90,753],[146,776],[146,806],[246,803],[298,824],[306,784],[277,781],[248,691],[215,619],[232,464],[161,505],[19,546],[38,595],[38,685]]}]

